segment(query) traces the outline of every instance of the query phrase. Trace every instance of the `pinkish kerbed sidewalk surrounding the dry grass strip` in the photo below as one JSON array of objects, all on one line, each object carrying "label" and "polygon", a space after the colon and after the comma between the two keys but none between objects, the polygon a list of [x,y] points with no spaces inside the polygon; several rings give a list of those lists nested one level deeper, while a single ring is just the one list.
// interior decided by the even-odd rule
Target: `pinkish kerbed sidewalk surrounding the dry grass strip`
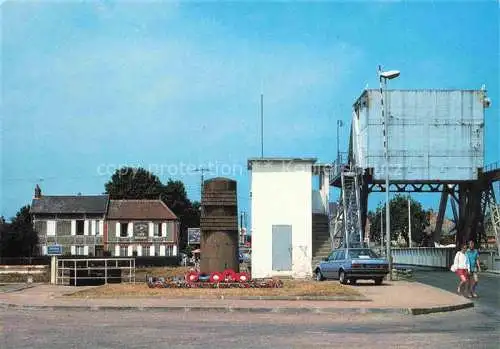
[{"label": "pinkish kerbed sidewalk surrounding the dry grass strip", "polygon": [[0,306],[66,310],[219,311],[285,313],[399,313],[427,314],[473,307],[468,299],[418,282],[397,281],[375,286],[355,286],[369,300],[241,300],[187,298],[94,298],[67,297],[84,287],[37,285],[0,294]]}]

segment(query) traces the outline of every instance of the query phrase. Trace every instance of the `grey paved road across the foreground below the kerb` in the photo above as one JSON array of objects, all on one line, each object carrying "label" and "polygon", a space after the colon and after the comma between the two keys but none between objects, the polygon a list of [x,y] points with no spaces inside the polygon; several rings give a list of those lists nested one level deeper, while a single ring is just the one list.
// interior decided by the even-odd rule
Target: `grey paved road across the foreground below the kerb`
[{"label": "grey paved road across the foreground below the kerb", "polygon": [[[0,348],[486,348],[499,318],[0,310]],[[3,328],[3,330],[2,330]]]}]

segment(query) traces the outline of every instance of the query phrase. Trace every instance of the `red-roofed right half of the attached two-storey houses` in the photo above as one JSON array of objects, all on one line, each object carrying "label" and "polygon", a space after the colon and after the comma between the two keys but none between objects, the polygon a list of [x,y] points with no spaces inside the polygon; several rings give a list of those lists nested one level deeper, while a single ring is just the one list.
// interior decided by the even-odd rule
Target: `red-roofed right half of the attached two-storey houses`
[{"label": "red-roofed right half of the attached two-storey houses", "polygon": [[104,238],[114,257],[177,256],[179,220],[161,200],[110,200]]}]

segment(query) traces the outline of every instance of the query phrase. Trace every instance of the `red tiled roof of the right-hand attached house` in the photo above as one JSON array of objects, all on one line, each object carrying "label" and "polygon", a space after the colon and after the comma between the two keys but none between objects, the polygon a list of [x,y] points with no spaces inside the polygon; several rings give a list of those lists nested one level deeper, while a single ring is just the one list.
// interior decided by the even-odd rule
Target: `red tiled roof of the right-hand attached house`
[{"label": "red tiled roof of the right-hand attached house", "polygon": [[177,216],[161,200],[110,200],[108,219],[166,219]]}]

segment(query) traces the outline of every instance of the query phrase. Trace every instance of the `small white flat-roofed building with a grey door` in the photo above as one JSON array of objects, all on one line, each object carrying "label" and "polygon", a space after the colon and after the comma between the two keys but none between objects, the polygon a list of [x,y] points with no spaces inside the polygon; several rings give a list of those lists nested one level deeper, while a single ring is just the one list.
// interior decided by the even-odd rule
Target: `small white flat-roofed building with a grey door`
[{"label": "small white flat-roofed building with a grey door", "polygon": [[[329,166],[312,158],[260,158],[248,160],[248,169],[252,277],[310,277],[319,246],[313,243],[313,216],[328,222]],[[315,175],[319,190],[313,190]],[[328,245],[328,223],[323,230],[320,243]]]}]

